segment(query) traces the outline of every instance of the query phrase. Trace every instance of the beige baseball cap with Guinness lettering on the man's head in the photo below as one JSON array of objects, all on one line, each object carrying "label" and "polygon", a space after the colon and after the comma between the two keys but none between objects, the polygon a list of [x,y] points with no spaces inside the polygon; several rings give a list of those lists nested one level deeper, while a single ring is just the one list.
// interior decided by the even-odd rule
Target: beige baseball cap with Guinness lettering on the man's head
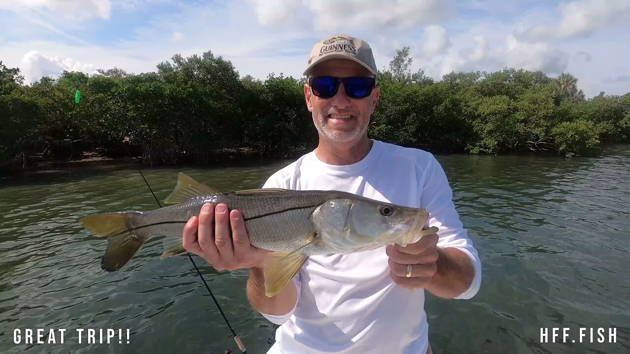
[{"label": "beige baseball cap with Guinness lettering on the man's head", "polygon": [[312,67],[317,64],[331,59],[354,60],[364,66],[365,69],[368,69],[374,76],[378,74],[370,45],[360,38],[339,33],[335,37],[326,38],[315,43],[311,49],[308,66],[304,70],[303,75],[306,76]]}]

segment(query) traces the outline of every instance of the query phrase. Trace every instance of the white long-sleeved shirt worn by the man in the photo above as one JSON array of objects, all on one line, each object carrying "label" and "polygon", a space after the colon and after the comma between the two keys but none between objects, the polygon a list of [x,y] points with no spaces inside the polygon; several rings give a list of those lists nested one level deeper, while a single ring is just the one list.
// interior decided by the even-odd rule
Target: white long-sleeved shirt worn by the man
[{"label": "white long-sleeved shirt worn by the man", "polygon": [[[312,151],[274,173],[263,186],[274,187],[340,190],[426,208],[428,225],[439,229],[438,247],[461,249],[473,262],[473,283],[457,299],[470,299],[478,292],[478,253],[455,211],[444,170],[429,152],[375,140],[361,161],[333,166]],[[384,247],[343,256],[311,256],[293,279],[298,294],[294,308],[284,316],[263,314],[282,324],[268,354],[425,354],[425,292],[392,282],[387,260]]]}]

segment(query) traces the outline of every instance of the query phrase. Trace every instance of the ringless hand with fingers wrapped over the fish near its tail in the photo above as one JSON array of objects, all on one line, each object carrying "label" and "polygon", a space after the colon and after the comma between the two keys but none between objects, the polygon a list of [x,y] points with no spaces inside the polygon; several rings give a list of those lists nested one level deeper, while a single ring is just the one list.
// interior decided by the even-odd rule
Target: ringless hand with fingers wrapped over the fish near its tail
[{"label": "ringless hand with fingers wrapped over the fish near its tail", "polygon": [[199,216],[188,220],[181,238],[186,251],[202,257],[219,271],[262,269],[265,255],[270,252],[249,243],[243,214],[238,210],[229,212],[223,203],[216,208],[210,203],[203,205]]}]

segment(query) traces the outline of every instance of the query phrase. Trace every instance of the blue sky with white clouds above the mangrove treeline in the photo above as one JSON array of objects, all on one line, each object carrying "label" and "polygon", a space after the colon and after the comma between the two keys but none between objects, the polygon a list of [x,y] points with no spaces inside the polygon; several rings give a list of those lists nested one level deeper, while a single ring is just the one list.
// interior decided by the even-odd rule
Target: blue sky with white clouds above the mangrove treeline
[{"label": "blue sky with white clouds above the mangrove treeline", "polygon": [[587,98],[630,92],[630,0],[0,0],[0,60],[26,83],[63,70],[156,65],[211,51],[241,76],[299,78],[340,33],[379,69],[410,46],[412,71],[570,72]]}]

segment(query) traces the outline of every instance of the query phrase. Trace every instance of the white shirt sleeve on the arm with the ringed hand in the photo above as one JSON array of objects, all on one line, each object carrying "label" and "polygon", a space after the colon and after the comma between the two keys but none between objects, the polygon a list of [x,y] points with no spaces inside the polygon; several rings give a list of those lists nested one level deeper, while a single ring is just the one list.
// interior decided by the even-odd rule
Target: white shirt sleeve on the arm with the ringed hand
[{"label": "white shirt sleeve on the arm with the ringed hand", "polygon": [[434,156],[430,157],[422,188],[421,205],[429,213],[428,226],[436,226],[440,248],[457,248],[472,261],[474,278],[471,286],[455,299],[471,299],[481,286],[481,260],[453,203],[453,192],[444,169]]}]

